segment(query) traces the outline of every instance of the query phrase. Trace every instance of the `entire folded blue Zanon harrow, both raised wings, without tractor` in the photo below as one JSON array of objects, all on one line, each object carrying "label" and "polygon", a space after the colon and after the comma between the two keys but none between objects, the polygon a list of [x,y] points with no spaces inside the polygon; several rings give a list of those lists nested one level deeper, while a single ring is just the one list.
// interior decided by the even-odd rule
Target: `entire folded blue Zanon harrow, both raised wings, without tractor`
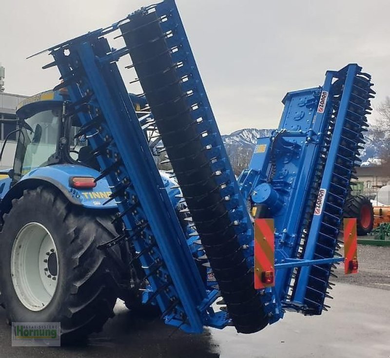
[{"label": "entire folded blue Zanon harrow, both raised wings, without tractor", "polygon": [[[114,49],[106,35],[125,46]],[[260,138],[238,183],[175,2],[141,8],[114,25],[49,49],[107,178],[124,229],[101,247],[134,248],[147,302],[186,332],[234,325],[252,333],[285,309],[320,314],[330,287],[342,207],[370,110],[370,76],[328,72],[322,88],[289,93],[278,130]],[[181,189],[183,232],[117,68],[130,55]],[[150,124],[150,122],[148,122]],[[275,286],[254,287],[255,217],[275,223]],[[336,257],[334,257],[336,255]],[[210,280],[214,277],[215,280]],[[226,309],[212,304],[222,296]]]}]

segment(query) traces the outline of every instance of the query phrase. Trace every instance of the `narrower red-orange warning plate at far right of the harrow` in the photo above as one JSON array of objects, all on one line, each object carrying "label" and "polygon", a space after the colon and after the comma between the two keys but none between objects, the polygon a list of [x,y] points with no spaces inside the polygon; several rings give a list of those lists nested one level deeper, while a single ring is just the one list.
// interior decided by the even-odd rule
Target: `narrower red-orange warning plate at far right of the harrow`
[{"label": "narrower red-orange warning plate at far right of the harrow", "polygon": [[357,273],[357,233],[356,219],[344,219],[344,272],[346,275]]}]

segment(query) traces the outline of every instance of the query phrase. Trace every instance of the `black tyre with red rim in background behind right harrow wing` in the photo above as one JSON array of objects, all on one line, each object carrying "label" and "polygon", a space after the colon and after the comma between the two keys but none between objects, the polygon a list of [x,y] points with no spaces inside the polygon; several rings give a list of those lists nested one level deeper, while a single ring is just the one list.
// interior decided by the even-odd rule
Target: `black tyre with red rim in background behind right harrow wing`
[{"label": "black tyre with red rim in background behind right harrow wing", "polygon": [[357,234],[368,235],[374,225],[374,209],[370,199],[363,195],[349,196],[344,206],[345,218],[356,218]]}]

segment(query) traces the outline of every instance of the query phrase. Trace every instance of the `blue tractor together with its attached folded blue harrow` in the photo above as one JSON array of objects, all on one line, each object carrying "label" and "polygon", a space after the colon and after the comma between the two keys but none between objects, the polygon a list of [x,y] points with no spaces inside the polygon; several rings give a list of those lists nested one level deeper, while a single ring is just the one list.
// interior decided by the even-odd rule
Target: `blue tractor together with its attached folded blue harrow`
[{"label": "blue tractor together with its attached folded blue harrow", "polygon": [[[0,184],[8,320],[60,321],[75,339],[99,330],[118,297],[189,333],[254,333],[286,310],[328,310],[335,264],[357,270],[355,243],[346,259],[337,249],[370,75],[350,64],[288,93],[236,180],[173,0],[48,51],[61,82],[20,105]],[[142,94],[126,90],[124,56]]]}]

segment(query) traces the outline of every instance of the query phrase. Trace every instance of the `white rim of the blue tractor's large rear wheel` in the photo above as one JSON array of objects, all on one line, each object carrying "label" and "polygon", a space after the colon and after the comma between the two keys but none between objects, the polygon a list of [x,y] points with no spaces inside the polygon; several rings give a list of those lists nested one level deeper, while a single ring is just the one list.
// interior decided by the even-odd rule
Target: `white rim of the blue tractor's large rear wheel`
[{"label": "white rim of the blue tractor's large rear wheel", "polygon": [[39,223],[23,226],[11,253],[11,277],[20,302],[41,311],[52,301],[58,284],[57,247],[47,228]]}]

